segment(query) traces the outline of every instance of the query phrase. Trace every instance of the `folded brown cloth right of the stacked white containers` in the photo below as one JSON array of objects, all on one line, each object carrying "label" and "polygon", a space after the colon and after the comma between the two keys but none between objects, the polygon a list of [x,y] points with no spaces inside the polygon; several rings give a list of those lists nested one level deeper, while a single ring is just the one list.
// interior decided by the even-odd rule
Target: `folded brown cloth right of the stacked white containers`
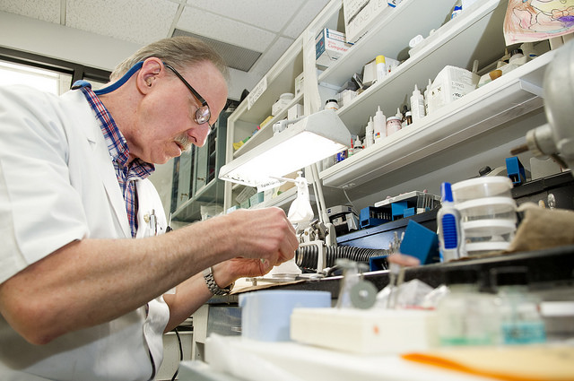
[{"label": "folded brown cloth right of the stacked white containers", "polygon": [[535,203],[523,203],[524,212],[516,235],[507,252],[541,250],[574,244],[574,211],[546,209]]}]

